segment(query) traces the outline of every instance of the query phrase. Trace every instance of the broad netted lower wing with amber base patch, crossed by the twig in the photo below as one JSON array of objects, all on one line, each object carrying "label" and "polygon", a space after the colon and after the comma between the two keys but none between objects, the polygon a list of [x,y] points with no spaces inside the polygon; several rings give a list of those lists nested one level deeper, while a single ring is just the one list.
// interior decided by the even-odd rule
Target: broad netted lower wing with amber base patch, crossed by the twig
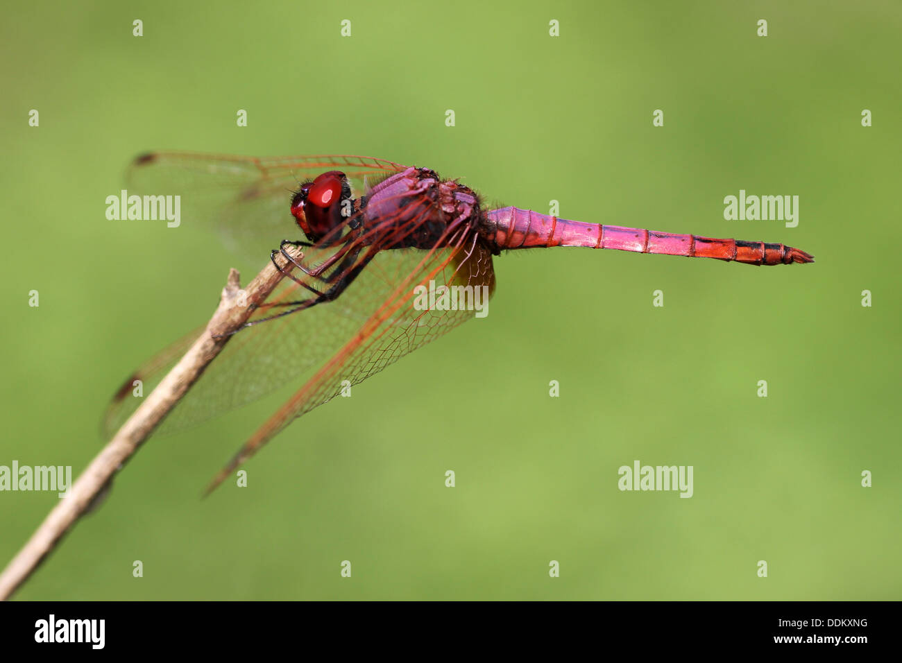
[{"label": "broad netted lower wing with amber base patch, crossed by the twig", "polygon": [[[427,276],[432,272],[436,273],[433,278],[437,284],[485,285],[491,292],[494,289],[491,253],[476,244],[467,258],[467,250],[465,246],[435,250],[430,257],[427,251],[419,249],[384,251],[367,267],[369,273],[355,281],[335,301],[243,329],[226,344],[200,380],[170,412],[157,434],[167,435],[190,428],[256,401],[286,383],[309,382],[316,375],[315,369],[336,357],[348,342],[362,334],[369,336],[370,341],[362,345],[360,351],[345,353],[343,370],[338,371],[335,362],[330,364],[333,372],[344,377],[336,382],[321,376],[322,386],[316,393],[311,393],[309,407],[306,410],[300,408],[292,415],[293,419],[303,413],[300,410],[311,410],[332,398],[335,389],[340,391],[342,380],[352,384],[361,382],[400,356],[472,318],[472,310],[417,310],[410,297],[405,301],[400,294],[395,294],[399,283],[407,283],[411,291],[421,282],[428,286]],[[279,303],[305,296],[297,283],[285,280],[268,302]],[[380,308],[381,313],[373,314],[373,302],[388,303]],[[391,307],[392,302],[400,302],[400,306],[388,314],[386,306]],[[271,313],[271,308],[261,308],[251,319]],[[374,320],[380,321],[379,328],[373,327]],[[134,394],[133,382],[141,380],[143,395],[150,394],[204,329],[200,327],[179,339],[124,382],[106,410],[106,437],[112,436],[143,401],[142,396]],[[330,373],[329,377],[334,376]],[[330,387],[334,387],[333,392],[323,398],[319,391],[329,391]],[[286,419],[284,424],[291,419]],[[278,431],[272,435],[275,432]]]}]

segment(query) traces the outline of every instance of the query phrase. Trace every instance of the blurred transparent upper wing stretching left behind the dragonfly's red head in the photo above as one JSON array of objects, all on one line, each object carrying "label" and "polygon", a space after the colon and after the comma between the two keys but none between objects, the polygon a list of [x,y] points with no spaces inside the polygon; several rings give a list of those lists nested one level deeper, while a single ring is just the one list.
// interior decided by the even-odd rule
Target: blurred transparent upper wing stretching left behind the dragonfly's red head
[{"label": "blurred transparent upper wing stretching left behind the dragonfly's red head", "polygon": [[262,263],[282,239],[299,236],[292,191],[326,170],[341,170],[354,197],[406,167],[351,155],[243,157],[149,152],[129,167],[129,194],[180,197],[180,227],[215,230],[226,247]]}]

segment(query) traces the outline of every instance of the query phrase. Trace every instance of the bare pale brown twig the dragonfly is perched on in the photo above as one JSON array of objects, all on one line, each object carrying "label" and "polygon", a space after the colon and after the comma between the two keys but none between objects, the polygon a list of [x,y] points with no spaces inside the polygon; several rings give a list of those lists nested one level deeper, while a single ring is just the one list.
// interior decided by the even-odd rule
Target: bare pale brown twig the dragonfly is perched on
[{"label": "bare pale brown twig the dragonfly is perched on", "polygon": [[[298,256],[299,253],[292,255],[294,258]],[[289,270],[290,264],[286,266],[285,272]],[[166,374],[157,388],[119,428],[113,439],[87,465],[87,469],[69,488],[69,494],[60,499],[60,503],[51,510],[32,534],[32,538],[6,566],[0,575],[0,600],[8,599],[32,575],[41,560],[56,548],[63,535],[104,491],[113,475],[141,447],[144,440],[150,437],[154,428],[188,393],[191,385],[197,382],[207,365],[232,337],[228,335],[250,318],[253,313],[251,305],[265,301],[283,276],[272,263],[267,264],[244,290],[244,299],[239,298],[241,290],[238,272],[229,272],[219,307],[213,318],[210,318],[206,332],[191,345],[179,363]]]}]

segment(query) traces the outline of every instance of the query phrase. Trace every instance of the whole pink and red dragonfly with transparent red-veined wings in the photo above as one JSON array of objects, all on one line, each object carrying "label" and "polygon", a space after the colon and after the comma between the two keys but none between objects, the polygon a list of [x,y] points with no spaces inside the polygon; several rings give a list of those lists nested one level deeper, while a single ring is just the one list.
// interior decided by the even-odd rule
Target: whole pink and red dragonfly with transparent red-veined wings
[{"label": "whole pink and red dragonfly with transparent red-veined wings", "polygon": [[[364,156],[151,152],[133,161],[129,185],[180,195],[183,225],[215,229],[258,259],[269,253],[285,275],[159,428],[176,432],[297,386],[207,492],[294,419],[478,315],[480,294],[487,302],[495,290],[492,259],[502,251],[581,246],[753,265],[815,260],[786,244],[489,209],[459,179]],[[292,224],[303,239],[273,248]],[[106,410],[107,434],[140,405],[136,381],[152,389],[203,333],[189,333],[129,376]]]}]

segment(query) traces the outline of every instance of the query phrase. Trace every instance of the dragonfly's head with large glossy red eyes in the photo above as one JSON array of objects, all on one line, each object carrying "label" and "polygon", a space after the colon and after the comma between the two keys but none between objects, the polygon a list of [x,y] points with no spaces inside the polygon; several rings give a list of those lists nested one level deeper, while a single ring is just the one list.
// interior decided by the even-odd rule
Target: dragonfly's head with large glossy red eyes
[{"label": "dragonfly's head with large glossy red eyes", "polygon": [[345,173],[329,170],[300,185],[291,198],[291,216],[310,242],[317,243],[342,226],[354,211]]}]

